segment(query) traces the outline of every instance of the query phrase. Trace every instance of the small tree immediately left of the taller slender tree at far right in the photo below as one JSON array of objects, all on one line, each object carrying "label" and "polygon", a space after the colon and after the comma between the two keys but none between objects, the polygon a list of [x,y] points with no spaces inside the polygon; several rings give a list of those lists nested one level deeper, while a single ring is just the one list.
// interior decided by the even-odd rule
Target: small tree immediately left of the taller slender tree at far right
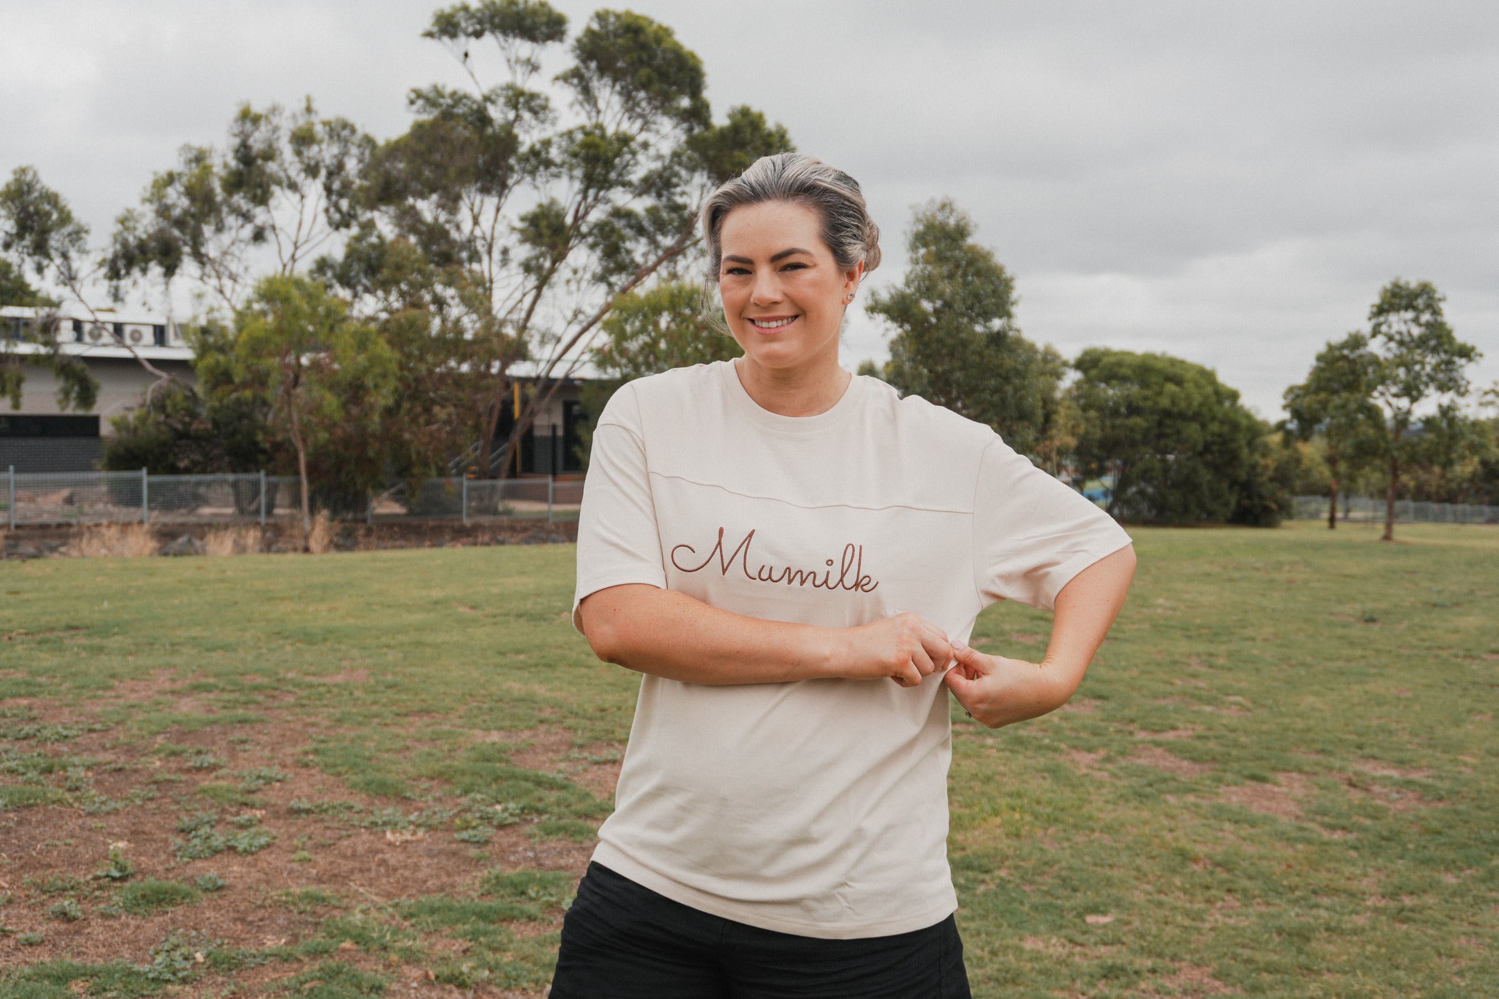
[{"label": "small tree immediately left of the taller slender tree at far right", "polygon": [[1285,434],[1300,440],[1321,436],[1327,445],[1330,529],[1337,527],[1343,472],[1357,470],[1370,458],[1381,433],[1381,413],[1373,401],[1378,376],[1379,358],[1369,349],[1369,337],[1351,333],[1330,341],[1316,355],[1307,379],[1285,394]]}]

